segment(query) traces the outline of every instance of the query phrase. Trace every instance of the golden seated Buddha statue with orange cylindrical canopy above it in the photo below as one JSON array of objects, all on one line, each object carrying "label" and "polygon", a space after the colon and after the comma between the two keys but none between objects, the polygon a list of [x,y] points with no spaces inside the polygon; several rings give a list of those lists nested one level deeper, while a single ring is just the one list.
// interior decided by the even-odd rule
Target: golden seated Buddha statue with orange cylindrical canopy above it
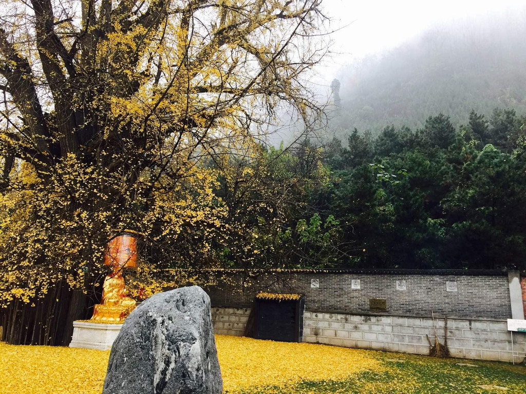
[{"label": "golden seated Buddha statue with orange cylindrical canopy above it", "polygon": [[113,237],[107,244],[105,265],[113,267],[103,284],[102,304],[97,304],[91,320],[97,323],[122,323],[137,304],[126,295],[126,285],[121,270],[137,268],[136,233],[123,232]]}]

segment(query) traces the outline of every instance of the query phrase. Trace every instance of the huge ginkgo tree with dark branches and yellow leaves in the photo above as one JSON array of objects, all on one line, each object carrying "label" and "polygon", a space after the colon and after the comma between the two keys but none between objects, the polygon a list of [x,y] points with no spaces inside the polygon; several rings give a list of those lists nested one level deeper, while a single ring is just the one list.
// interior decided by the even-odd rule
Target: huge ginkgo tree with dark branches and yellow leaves
[{"label": "huge ginkgo tree with dark branches and yellow leaves", "polygon": [[95,283],[112,229],[163,261],[181,227],[206,227],[206,255],[227,211],[207,163],[257,152],[283,105],[320,115],[305,79],[327,51],[320,3],[5,1],[2,302]]}]

